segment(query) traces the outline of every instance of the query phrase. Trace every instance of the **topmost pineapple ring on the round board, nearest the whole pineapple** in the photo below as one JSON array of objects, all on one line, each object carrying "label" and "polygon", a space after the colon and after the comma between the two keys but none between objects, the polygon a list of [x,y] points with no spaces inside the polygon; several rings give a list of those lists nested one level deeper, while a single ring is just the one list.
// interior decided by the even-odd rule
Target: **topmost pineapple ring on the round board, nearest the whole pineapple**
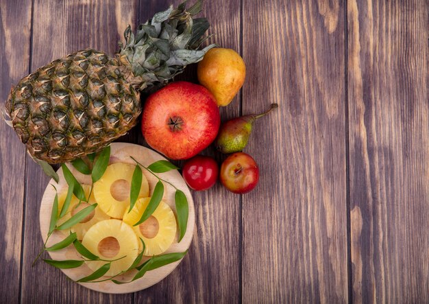
[{"label": "topmost pineapple ring on the round board, nearest the whole pineapple", "polygon": [[[130,206],[130,185],[135,165],[114,163],[109,165],[103,176],[94,184],[94,196],[99,207],[112,218],[123,217]],[[138,198],[149,196],[149,183],[143,174]]]}]

